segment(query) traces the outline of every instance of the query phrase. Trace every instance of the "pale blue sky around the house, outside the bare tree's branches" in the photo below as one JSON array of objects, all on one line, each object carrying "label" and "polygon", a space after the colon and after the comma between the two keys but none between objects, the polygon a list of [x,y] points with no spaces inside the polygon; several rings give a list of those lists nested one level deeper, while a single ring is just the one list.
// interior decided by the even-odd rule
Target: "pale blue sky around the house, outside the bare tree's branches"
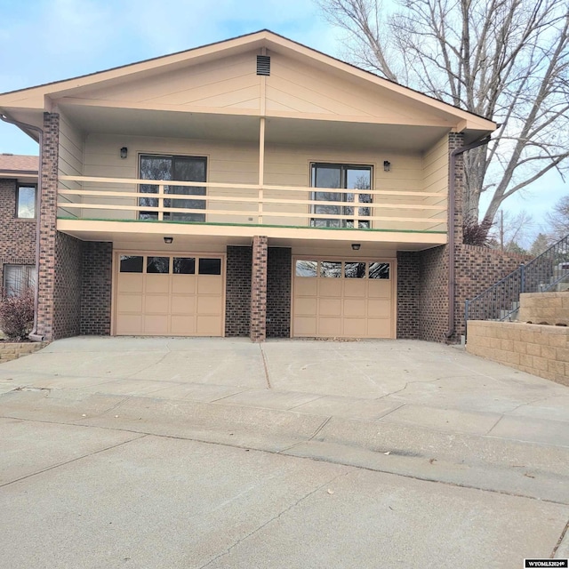
[{"label": "pale blue sky around the house, outside the bare tree's branches", "polygon": [[[341,57],[340,33],[309,0],[0,0],[0,92],[84,75],[269,28]],[[0,123],[0,152],[36,154],[37,145]],[[555,172],[512,196],[534,230],[569,194]]]}]

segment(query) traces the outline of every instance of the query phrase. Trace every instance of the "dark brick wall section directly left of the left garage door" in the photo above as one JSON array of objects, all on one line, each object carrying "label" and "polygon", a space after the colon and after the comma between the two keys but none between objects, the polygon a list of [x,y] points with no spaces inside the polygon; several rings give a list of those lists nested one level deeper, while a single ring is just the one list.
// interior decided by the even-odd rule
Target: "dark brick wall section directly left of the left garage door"
[{"label": "dark brick wall section directly left of the left garage door", "polygon": [[83,244],[80,333],[110,334],[113,244]]}]

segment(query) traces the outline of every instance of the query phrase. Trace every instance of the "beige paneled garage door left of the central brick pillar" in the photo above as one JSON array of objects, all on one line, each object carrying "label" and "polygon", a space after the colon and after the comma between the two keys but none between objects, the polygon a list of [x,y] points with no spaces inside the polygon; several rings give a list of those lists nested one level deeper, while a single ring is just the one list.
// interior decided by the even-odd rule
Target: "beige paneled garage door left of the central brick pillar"
[{"label": "beige paneled garage door left of the central brick pillar", "polygon": [[119,254],[117,335],[222,336],[223,259]]}]

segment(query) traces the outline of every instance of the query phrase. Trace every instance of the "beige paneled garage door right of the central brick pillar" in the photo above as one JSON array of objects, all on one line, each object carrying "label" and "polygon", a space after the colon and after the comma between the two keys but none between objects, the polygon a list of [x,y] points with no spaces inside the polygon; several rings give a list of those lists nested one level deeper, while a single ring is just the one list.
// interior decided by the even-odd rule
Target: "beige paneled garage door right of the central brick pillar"
[{"label": "beige paneled garage door right of the central brick pillar", "polygon": [[294,260],[293,335],[395,338],[395,263]]}]

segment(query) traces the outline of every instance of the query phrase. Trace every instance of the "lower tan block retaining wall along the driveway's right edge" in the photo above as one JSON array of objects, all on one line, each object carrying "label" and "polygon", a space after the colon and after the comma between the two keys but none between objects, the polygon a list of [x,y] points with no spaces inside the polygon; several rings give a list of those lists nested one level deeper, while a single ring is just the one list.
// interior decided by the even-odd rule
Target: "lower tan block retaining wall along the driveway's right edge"
[{"label": "lower tan block retaining wall along the driveway's right edge", "polygon": [[569,328],[470,320],[466,350],[569,387]]}]

